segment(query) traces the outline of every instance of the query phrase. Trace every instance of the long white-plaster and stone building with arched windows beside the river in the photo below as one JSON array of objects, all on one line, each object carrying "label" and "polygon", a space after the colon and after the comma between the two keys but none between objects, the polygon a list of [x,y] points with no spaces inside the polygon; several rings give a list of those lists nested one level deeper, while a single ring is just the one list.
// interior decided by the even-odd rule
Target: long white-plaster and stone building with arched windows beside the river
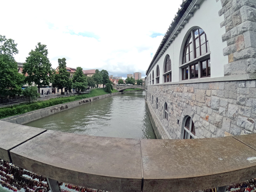
[{"label": "long white-plaster and stone building with arched windows beside the river", "polygon": [[183,1],[146,71],[158,138],[256,133],[255,15],[253,1]]}]

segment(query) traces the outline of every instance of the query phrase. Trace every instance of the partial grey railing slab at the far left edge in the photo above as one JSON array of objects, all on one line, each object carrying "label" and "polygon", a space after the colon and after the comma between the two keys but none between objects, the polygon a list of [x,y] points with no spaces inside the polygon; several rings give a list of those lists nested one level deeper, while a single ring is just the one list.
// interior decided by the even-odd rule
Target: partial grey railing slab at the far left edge
[{"label": "partial grey railing slab at the far left edge", "polygon": [[0,159],[11,162],[9,150],[45,131],[45,129],[0,121]]}]

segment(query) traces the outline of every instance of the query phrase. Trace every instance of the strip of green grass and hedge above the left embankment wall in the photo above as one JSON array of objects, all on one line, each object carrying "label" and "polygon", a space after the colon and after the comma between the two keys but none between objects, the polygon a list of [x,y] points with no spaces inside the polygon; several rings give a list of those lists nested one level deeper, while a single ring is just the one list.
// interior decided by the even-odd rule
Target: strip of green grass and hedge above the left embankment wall
[{"label": "strip of green grass and hedge above the left embankment wall", "polygon": [[[116,92],[118,91],[115,89],[112,91],[112,93],[116,93]],[[105,95],[105,94],[109,94],[109,93],[105,92],[103,89],[93,89],[91,93],[87,93],[87,94],[75,95],[70,97],[52,98],[49,100],[37,101],[30,104],[22,103],[22,104],[17,104],[13,106],[6,106],[5,108],[0,108],[0,119],[14,116],[14,115],[24,114],[24,113],[39,110],[39,109],[48,108],[49,106],[54,106],[57,104],[63,104],[67,102],[72,102],[80,99],[86,99],[89,97],[95,97],[95,96]]]}]

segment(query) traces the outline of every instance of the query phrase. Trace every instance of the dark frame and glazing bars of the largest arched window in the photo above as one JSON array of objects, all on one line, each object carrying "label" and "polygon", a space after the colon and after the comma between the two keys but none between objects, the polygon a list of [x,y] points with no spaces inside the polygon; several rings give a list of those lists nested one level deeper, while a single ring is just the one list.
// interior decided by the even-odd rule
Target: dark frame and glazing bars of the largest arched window
[{"label": "dark frame and glazing bars of the largest arched window", "polygon": [[[199,31],[202,30],[203,32],[200,33]],[[198,31],[198,36],[195,37],[195,32]],[[205,37],[205,42],[201,45],[201,36]],[[187,46],[187,41],[189,38],[192,39],[191,44],[193,45],[193,51],[194,52],[192,55],[194,56],[193,59],[190,59],[189,61],[183,62],[184,61],[184,52]],[[196,48],[196,40],[199,39],[199,47]],[[189,44],[190,45],[190,44]],[[202,46],[205,46],[206,53],[202,53]],[[197,56],[196,49],[200,50],[200,55]],[[190,52],[189,52],[190,53]],[[196,57],[197,56],[197,57]],[[186,57],[185,57],[186,58]],[[189,56],[190,58],[190,56]],[[206,76],[202,76],[202,62],[205,61],[207,62],[206,65]],[[209,65],[208,65],[209,61]],[[196,65],[198,65],[198,77],[192,77],[192,70],[191,67],[194,66],[196,69]],[[208,67],[209,66],[209,67]],[[207,35],[205,31],[201,28],[195,28],[189,32],[189,34],[186,37],[185,45],[183,46],[183,53],[182,53],[182,65],[180,66],[181,68],[181,80],[189,80],[189,79],[200,79],[200,78],[205,78],[205,77],[210,77],[210,49],[209,49],[209,41],[207,38]],[[184,73],[184,70],[187,69],[187,74]],[[196,74],[196,73],[195,73]]]}]

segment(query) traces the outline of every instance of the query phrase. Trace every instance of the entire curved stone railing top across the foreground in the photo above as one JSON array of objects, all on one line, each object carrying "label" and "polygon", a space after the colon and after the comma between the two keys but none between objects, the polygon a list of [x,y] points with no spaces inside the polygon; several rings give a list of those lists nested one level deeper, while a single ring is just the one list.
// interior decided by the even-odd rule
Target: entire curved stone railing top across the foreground
[{"label": "entire curved stone railing top across the foreground", "polygon": [[191,191],[256,178],[256,134],[122,139],[0,121],[0,158],[51,179],[102,190]]}]

